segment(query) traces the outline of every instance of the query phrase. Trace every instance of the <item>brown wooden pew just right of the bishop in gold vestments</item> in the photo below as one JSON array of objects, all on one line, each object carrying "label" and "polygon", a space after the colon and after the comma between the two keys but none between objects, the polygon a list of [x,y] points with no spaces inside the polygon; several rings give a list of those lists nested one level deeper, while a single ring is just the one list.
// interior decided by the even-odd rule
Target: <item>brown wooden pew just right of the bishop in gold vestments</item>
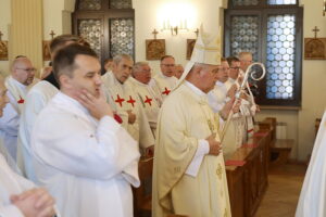
[{"label": "brown wooden pew just right of the bishop in gold vestments", "polygon": [[[226,176],[233,217],[254,216],[268,184],[272,131],[262,129],[226,159]],[[246,162],[227,166],[228,162]]]}]

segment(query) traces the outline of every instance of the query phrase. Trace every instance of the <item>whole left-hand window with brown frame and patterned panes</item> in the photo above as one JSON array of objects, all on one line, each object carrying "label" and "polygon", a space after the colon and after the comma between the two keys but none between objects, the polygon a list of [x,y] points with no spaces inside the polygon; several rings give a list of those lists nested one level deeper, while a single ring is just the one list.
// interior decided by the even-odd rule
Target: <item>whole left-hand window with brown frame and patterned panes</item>
[{"label": "whole left-hand window with brown frame and patterned panes", "polygon": [[131,0],[76,0],[73,33],[85,38],[102,62],[121,53],[135,58]]}]

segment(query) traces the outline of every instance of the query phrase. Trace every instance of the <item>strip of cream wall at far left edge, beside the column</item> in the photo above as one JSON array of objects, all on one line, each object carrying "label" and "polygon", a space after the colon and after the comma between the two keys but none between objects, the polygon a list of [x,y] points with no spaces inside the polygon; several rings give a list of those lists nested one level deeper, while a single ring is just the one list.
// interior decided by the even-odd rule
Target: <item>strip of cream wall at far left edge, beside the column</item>
[{"label": "strip of cream wall at far left edge, beside the column", "polygon": [[[3,34],[2,40],[9,38],[9,25],[11,23],[11,2],[10,0],[0,0],[0,30]],[[0,61],[0,72],[3,75],[9,73],[9,61]]]}]

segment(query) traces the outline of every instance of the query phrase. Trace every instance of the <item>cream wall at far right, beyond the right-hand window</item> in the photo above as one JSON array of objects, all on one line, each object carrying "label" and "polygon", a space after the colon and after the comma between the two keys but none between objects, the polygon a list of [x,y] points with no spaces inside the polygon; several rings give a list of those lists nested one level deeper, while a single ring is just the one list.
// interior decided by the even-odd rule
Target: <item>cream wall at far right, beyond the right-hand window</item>
[{"label": "cream wall at far right, beyond the right-hand window", "polygon": [[[326,38],[326,16],[323,16],[322,1],[302,0],[304,5],[304,37],[312,38],[317,26],[318,37]],[[302,63],[302,110],[299,112],[299,159],[311,153],[315,138],[314,120],[322,117],[326,107],[326,60],[304,60]]]}]

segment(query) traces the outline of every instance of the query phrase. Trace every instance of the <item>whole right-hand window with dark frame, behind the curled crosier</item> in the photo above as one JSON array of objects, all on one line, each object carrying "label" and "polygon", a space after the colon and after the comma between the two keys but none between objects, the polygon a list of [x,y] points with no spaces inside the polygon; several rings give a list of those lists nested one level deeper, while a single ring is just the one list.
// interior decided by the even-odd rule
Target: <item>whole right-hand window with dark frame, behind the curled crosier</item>
[{"label": "whole right-hand window with dark frame, behind the curled crosier", "polygon": [[263,105],[301,105],[303,9],[298,0],[229,0],[225,10],[225,55],[241,51],[265,64],[259,84]]}]

